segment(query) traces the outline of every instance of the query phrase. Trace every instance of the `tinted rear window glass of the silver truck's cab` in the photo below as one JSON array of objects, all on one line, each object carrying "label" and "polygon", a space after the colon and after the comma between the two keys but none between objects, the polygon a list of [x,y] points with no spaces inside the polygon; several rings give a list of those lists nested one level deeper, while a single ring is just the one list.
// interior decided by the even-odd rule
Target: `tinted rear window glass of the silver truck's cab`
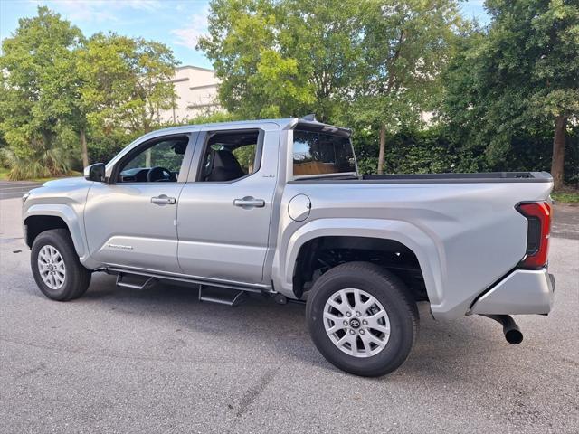
[{"label": "tinted rear window glass of the silver truck's cab", "polygon": [[348,137],[317,131],[294,130],[293,175],[332,175],[356,172]]}]

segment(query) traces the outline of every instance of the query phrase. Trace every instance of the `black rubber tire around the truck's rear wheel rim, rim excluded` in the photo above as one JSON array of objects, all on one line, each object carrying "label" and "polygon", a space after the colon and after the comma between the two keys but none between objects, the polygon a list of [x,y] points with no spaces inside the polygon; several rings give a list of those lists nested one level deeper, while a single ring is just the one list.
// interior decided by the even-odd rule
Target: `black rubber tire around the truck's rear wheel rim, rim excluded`
[{"label": "black rubber tire around the truck's rear wheel rim, rim excluded", "polygon": [[[326,332],[323,318],[326,302],[338,290],[345,288],[362,289],[372,295],[382,304],[389,317],[390,336],[384,348],[375,355],[356,357],[346,354]],[[327,361],[347,373],[365,377],[392,373],[404,363],[413,348],[419,319],[416,303],[402,280],[368,262],[342,264],[318,278],[308,294],[306,318],[309,334]]]}]

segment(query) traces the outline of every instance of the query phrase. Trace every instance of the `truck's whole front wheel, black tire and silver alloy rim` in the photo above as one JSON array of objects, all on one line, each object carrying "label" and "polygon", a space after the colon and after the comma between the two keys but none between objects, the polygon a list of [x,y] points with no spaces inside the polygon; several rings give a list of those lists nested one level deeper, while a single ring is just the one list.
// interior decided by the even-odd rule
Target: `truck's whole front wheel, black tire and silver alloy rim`
[{"label": "truck's whole front wheel, black tire and silver alloy rim", "polygon": [[68,301],[81,297],[90,285],[85,269],[65,229],[44,231],[33,242],[30,255],[36,285],[52,300]]}]

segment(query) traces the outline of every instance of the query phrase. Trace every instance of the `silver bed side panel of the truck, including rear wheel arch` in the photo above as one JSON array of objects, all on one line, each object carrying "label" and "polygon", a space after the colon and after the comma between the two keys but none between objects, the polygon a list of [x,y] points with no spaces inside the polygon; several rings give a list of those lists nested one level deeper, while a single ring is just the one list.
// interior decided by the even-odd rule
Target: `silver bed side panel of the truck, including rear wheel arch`
[{"label": "silver bed side panel of the truck, including rear wheel arch", "polygon": [[[414,251],[435,317],[462,316],[525,255],[527,220],[517,203],[546,200],[551,188],[551,183],[288,184],[280,203],[274,284],[291,290],[295,258],[309,239],[380,236]],[[294,222],[288,203],[300,193],[310,198],[311,212]]]}]

